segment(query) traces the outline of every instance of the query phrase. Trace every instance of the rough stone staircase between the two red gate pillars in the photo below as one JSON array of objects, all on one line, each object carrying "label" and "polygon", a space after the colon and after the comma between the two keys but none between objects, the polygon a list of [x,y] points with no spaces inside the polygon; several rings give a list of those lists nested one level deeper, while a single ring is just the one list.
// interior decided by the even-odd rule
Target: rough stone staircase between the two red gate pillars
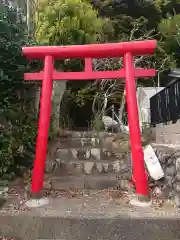
[{"label": "rough stone staircase between the two red gate pillars", "polygon": [[117,178],[129,178],[129,141],[123,138],[120,146],[114,139],[114,134],[106,132],[58,136],[46,161],[52,188],[104,189],[116,187]]}]

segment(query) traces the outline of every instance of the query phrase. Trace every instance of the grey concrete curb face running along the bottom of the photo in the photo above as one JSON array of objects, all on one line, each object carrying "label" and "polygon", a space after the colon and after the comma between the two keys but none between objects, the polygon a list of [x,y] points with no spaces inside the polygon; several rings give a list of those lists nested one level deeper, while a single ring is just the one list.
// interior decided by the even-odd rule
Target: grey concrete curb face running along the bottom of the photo
[{"label": "grey concrete curb face running along the bottom of the photo", "polygon": [[0,235],[21,240],[179,240],[180,219],[0,216]]}]

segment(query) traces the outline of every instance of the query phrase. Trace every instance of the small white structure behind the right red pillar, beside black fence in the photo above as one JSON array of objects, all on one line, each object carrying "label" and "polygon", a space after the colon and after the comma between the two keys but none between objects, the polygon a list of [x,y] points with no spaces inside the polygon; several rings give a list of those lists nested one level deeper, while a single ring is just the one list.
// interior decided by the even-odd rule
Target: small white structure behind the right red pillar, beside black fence
[{"label": "small white structure behind the right red pillar, beside black fence", "polygon": [[139,87],[137,88],[137,102],[139,113],[139,124],[142,129],[144,124],[150,124],[151,111],[150,111],[150,98],[163,90],[164,87]]}]

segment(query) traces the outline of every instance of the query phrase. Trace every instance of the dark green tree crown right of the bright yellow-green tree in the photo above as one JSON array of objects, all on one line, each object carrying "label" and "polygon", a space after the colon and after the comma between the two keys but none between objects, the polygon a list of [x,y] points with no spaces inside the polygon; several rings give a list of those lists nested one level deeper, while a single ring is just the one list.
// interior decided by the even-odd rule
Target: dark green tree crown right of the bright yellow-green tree
[{"label": "dark green tree crown right of the bright yellow-green tree", "polygon": [[[98,10],[100,16],[108,17],[111,19],[116,33],[118,32],[119,26],[126,24],[126,21],[129,24],[130,21],[134,22],[139,18],[144,18],[147,20],[147,27],[148,30],[150,30],[157,26],[157,22],[161,17],[159,10],[154,5],[153,1],[91,0],[91,2],[95,9]],[[117,40],[116,36],[115,39]]]}]

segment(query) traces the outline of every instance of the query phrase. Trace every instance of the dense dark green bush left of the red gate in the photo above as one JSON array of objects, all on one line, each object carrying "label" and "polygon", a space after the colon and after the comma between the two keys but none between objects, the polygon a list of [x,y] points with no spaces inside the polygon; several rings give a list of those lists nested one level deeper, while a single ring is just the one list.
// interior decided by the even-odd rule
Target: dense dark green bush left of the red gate
[{"label": "dense dark green bush left of the red gate", "polygon": [[36,135],[32,85],[25,84],[25,26],[16,9],[0,7],[0,179],[31,167]]}]

